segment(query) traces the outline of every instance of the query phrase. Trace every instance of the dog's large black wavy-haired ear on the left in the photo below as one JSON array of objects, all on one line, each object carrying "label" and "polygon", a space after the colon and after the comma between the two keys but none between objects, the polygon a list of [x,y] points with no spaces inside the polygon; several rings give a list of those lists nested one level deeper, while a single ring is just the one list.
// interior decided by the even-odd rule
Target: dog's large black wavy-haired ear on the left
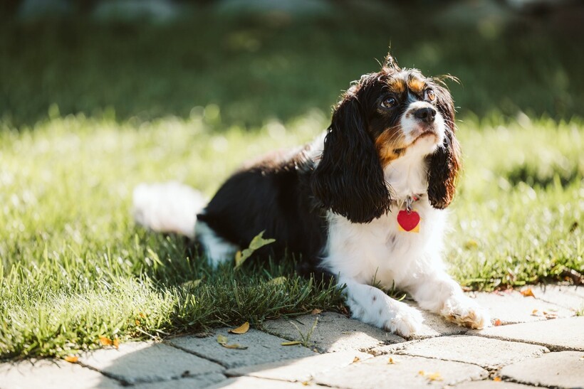
[{"label": "dog's large black wavy-haired ear on the left", "polygon": [[311,178],[320,203],[353,223],[379,218],[389,211],[391,201],[365,120],[357,97],[348,92],[333,113],[323,155]]}]

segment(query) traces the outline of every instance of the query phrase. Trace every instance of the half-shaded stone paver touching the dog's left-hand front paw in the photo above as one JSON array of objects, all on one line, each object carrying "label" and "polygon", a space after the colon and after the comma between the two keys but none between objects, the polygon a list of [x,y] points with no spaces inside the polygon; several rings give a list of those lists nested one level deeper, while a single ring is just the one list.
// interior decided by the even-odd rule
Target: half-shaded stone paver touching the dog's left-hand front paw
[{"label": "half-shaded stone paver touching the dog's left-hand front paw", "polygon": [[291,324],[292,321],[303,334],[312,328],[318,316],[318,324],[311,336],[320,351],[360,350],[380,346],[384,343],[398,343],[405,341],[401,336],[390,334],[382,329],[364,324],[355,319],[348,319],[342,314],[324,312],[319,315],[299,316],[296,319],[279,319],[266,321],[264,328],[271,334],[286,339],[300,340],[298,330]]}]

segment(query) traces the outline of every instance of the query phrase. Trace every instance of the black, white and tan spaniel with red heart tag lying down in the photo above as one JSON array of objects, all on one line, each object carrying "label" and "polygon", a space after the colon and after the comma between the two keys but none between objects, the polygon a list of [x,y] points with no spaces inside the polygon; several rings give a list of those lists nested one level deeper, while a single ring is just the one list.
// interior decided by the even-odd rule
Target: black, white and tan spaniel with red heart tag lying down
[{"label": "black, white and tan spaniel with red heart tag lying down", "polygon": [[442,262],[445,208],[461,169],[455,132],[442,79],[387,55],[380,71],[353,82],[311,144],[243,166],[206,206],[178,183],[139,186],[135,218],[196,239],[213,265],[265,231],[276,240],[272,255],[287,249],[299,255],[299,272],[333,275],[353,318],[401,336],[421,329],[422,314],[382,289],[481,329],[489,314]]}]

